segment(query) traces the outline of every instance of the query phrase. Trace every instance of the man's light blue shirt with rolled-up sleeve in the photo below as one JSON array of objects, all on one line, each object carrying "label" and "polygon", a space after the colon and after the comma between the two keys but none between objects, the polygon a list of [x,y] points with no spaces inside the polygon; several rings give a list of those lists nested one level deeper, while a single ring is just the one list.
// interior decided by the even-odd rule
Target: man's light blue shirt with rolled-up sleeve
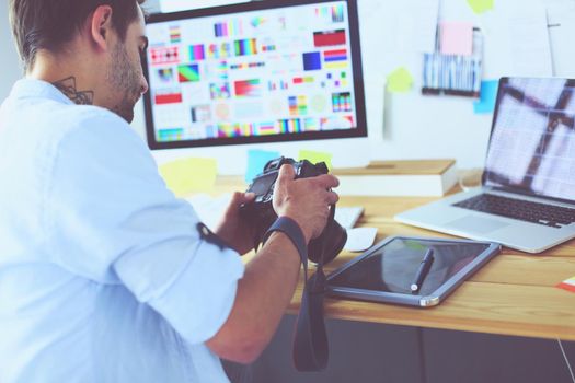
[{"label": "man's light blue shirt with rolled-up sleeve", "polygon": [[24,79],[0,108],[0,382],[227,382],[243,275],[115,114]]}]

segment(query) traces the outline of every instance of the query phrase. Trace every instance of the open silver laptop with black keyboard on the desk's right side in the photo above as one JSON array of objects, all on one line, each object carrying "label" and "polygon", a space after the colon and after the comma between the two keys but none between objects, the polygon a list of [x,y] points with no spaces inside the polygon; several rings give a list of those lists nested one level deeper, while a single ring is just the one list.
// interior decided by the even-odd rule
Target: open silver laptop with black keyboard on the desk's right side
[{"label": "open silver laptop with black keyboard on the desk's right side", "polygon": [[539,253],[575,237],[575,80],[503,78],[482,187],[395,220]]}]

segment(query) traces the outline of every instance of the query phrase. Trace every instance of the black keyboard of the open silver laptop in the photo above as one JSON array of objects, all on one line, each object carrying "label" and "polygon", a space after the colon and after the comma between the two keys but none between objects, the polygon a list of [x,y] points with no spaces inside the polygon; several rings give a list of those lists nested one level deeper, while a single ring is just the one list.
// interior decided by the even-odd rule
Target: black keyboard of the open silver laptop
[{"label": "black keyboard of the open silver laptop", "polygon": [[453,204],[453,206],[557,229],[561,225],[575,222],[575,209],[495,196],[493,194],[480,194]]}]

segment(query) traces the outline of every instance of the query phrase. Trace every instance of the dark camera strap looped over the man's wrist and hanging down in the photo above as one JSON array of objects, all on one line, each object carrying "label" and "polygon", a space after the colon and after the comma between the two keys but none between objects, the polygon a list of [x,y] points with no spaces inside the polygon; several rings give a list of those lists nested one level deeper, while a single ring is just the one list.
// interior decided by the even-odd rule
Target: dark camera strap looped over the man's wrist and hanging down
[{"label": "dark camera strap looped over the man's wrist and hanging down", "polygon": [[[332,205],[327,221],[333,220],[334,214],[335,205]],[[294,363],[298,371],[324,370],[330,357],[323,317],[323,300],[326,289],[326,279],[323,272],[325,246],[322,244],[321,254],[317,257],[319,263],[315,274],[308,279],[308,246],[299,225],[287,217],[278,218],[267,230],[262,242],[265,243],[274,231],[281,231],[291,240],[303,265],[304,286],[294,336]]]}]

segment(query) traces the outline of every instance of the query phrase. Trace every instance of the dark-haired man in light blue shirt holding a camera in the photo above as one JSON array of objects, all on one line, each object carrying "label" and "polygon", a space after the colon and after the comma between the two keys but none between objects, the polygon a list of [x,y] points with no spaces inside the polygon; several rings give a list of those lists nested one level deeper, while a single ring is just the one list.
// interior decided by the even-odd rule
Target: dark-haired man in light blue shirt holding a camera
[{"label": "dark-haired man in light blue shirt holding a camera", "polygon": [[[216,234],[127,121],[147,91],[142,1],[10,0],[25,78],[0,108],[0,382],[227,382],[297,285],[331,175],[280,170],[274,232],[245,266],[235,193]],[[227,245],[228,244],[228,245]],[[230,247],[228,247],[230,246]]]}]

